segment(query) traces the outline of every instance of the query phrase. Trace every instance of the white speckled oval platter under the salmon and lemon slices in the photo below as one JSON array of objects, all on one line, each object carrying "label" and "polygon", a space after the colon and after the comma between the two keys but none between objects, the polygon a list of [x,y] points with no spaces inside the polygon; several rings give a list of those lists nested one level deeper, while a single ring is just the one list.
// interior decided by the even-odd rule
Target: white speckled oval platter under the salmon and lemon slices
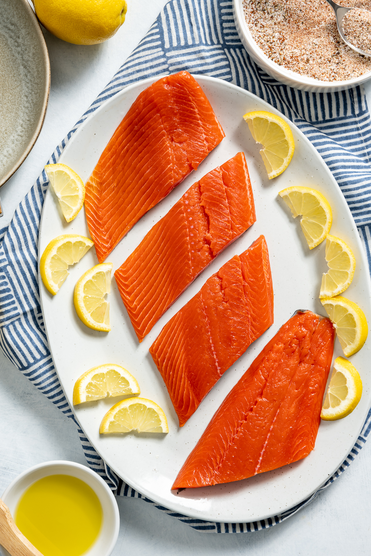
[{"label": "white speckled oval platter under the salmon and lemon slices", "polygon": [[[320,424],[315,449],[307,458],[243,481],[186,489],[179,494],[171,490],[178,471],[212,415],[279,327],[296,309],[310,309],[325,314],[318,299],[321,274],[327,270],[325,242],[309,251],[300,230],[299,219],[291,218],[289,210],[278,197],[281,189],[291,185],[307,185],[318,188],[328,198],[334,216],[331,233],[342,237],[352,247],[357,259],[352,285],[344,295],[363,308],[369,322],[371,287],[367,260],[347,203],[328,167],[303,133],[288,122],[295,139],[294,157],[283,174],[269,181],[259,154],[260,147],[253,141],[243,114],[253,110],[276,112],[274,108],[230,83],[206,76],[195,78],[209,98],[226,137],[197,171],[192,172],[137,222],[106,261],[113,263],[115,271],[192,183],[238,151],[244,151],[248,161],[256,207],[255,224],[202,272],[141,344],[138,344],[115,279],[112,280],[109,295],[110,332],[90,330],[76,315],[73,289],[83,272],[97,264],[94,249],[70,268],[70,276],[55,297],[49,294],[41,280],[40,292],[48,342],[66,398],[87,438],[111,469],[138,492],[175,512],[204,520],[244,523],[284,512],[323,485],[353,448],[371,405],[370,352],[367,341],[363,349],[352,356],[352,363],[359,370],[363,381],[360,403],[347,418]],[[60,162],[72,167],[85,182],[132,102],[154,81],[151,78],[131,85],[98,108],[72,136]],[[84,211],[67,224],[49,188],[43,206],[39,255],[54,237],[67,233],[88,236]],[[270,255],[274,324],[226,371],[195,414],[185,426],[179,428],[165,384],[149,354],[149,347],[162,326],[199,291],[207,278],[230,257],[247,249],[260,234],[266,238]],[[335,341],[334,355],[343,355],[338,340]],[[164,409],[169,421],[169,434],[100,435],[101,419],[118,401],[115,398],[73,408],[72,391],[76,379],[86,370],[102,363],[121,364],[135,375],[140,384],[141,396],[156,401]]]}]

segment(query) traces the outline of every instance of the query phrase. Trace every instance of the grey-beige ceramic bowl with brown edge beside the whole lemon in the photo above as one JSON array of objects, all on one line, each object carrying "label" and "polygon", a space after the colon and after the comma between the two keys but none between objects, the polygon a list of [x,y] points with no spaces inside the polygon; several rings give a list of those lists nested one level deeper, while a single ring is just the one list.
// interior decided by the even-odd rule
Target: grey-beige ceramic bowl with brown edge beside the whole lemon
[{"label": "grey-beige ceramic bowl with brown edge beside the whole lemon", "polygon": [[0,0],[0,186],[21,166],[44,121],[50,63],[27,0]]}]

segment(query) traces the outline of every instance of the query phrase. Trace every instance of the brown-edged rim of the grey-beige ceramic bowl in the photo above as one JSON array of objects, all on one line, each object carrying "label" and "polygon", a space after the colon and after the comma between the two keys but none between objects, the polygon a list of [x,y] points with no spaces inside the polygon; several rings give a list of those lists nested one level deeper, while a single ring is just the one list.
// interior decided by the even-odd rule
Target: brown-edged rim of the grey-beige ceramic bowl
[{"label": "brown-edged rim of the grey-beige ceramic bowl", "polygon": [[38,41],[40,43],[41,49],[42,49],[43,64],[44,64],[44,70],[45,70],[45,76],[46,76],[45,86],[44,86],[44,99],[43,99],[43,103],[42,103],[42,109],[41,109],[41,112],[39,114],[38,123],[37,123],[37,126],[36,126],[36,128],[33,132],[32,137],[29,140],[28,145],[24,149],[22,155],[14,163],[11,170],[9,170],[8,173],[5,176],[0,178],[0,187],[2,185],[4,185],[4,183],[6,183],[9,180],[9,178],[11,178],[12,175],[18,170],[19,166],[21,166],[21,164],[24,162],[24,160],[26,160],[27,156],[29,155],[29,152],[31,151],[34,144],[36,143],[37,137],[39,136],[39,133],[41,132],[41,128],[43,126],[44,119],[45,119],[45,116],[46,116],[46,109],[47,109],[47,106],[48,106],[49,93],[50,93],[50,59],[49,59],[49,54],[48,54],[48,49],[47,49],[47,46],[46,46],[46,42],[45,42],[44,36],[42,34],[42,31],[41,31],[40,24],[38,22],[36,14],[34,13],[33,9],[29,5],[28,1],[27,0],[19,0],[19,1],[23,3],[24,8],[28,12],[28,19],[29,19],[29,22],[30,22],[30,26],[31,26],[31,24],[33,25],[33,27],[36,31],[36,35],[37,35]]}]

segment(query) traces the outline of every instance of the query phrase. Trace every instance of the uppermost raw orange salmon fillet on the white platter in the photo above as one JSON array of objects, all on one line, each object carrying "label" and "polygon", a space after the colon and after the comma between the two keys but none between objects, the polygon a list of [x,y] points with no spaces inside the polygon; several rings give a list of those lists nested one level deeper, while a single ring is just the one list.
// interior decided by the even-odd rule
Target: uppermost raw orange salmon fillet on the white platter
[{"label": "uppermost raw orange salmon fillet on the white platter", "polygon": [[190,73],[163,77],[140,93],[86,182],[86,220],[98,261],[223,137]]}]

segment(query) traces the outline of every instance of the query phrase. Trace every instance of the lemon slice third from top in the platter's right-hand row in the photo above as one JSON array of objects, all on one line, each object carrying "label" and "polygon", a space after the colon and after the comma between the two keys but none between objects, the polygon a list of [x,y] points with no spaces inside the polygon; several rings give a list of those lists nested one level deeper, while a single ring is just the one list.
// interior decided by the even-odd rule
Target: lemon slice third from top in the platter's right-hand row
[{"label": "lemon slice third from top in the platter's right-hand row", "polygon": [[322,275],[320,299],[328,299],[341,294],[353,280],[355,257],[352,249],[339,237],[328,235],[326,255],[329,271]]}]

